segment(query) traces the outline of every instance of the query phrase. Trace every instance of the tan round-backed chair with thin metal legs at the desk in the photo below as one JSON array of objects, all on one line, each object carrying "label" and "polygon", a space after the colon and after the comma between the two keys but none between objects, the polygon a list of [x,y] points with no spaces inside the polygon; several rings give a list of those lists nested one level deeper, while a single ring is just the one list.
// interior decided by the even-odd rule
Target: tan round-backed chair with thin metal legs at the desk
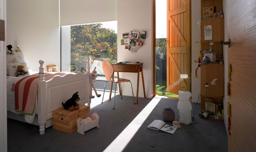
[{"label": "tan round-backed chair with thin metal legs at the desk", "polygon": [[[123,99],[123,96],[122,96],[122,85],[121,83],[122,82],[130,82],[130,80],[128,79],[123,79],[123,78],[112,78],[112,76],[114,75],[114,67],[112,66],[112,64],[108,61],[103,61],[102,62],[102,69],[104,71],[104,74],[105,74],[105,77],[107,79],[107,82],[112,82],[112,83],[120,83],[120,90],[121,90],[121,99]],[[107,83],[106,82],[106,83]],[[104,93],[105,93],[105,88],[106,88],[106,83],[105,83],[105,86],[104,86],[104,92],[103,92],[103,97],[102,97],[102,102],[103,103],[103,98],[104,98]],[[131,86],[132,86],[132,83],[131,83]],[[112,90],[110,90],[110,93],[112,92]],[[133,103],[135,104],[135,101],[134,101],[134,95],[133,95],[133,90],[132,90],[132,97],[133,97]],[[114,107],[113,109],[115,109],[115,100],[116,100],[116,85],[115,85],[115,96],[114,96]]]}]

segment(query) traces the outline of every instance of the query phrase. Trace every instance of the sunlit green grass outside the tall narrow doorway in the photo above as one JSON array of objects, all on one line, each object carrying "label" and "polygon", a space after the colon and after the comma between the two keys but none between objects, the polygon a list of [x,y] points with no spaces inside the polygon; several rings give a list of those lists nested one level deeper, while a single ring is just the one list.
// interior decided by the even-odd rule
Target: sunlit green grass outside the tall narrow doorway
[{"label": "sunlit green grass outside the tall narrow doorway", "polygon": [[167,92],[166,86],[167,86],[166,81],[164,81],[164,80],[162,82],[156,82],[156,94],[162,95],[162,96],[167,96],[167,97],[176,97],[176,98],[179,97],[177,94]]}]

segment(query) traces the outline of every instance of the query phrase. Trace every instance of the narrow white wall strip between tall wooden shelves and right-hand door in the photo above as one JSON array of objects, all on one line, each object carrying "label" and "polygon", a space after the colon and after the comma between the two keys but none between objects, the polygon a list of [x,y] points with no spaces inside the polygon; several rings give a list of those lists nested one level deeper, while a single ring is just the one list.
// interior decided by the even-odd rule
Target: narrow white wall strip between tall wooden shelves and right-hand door
[{"label": "narrow white wall strip between tall wooden shelves and right-hand door", "polygon": [[[228,6],[227,0],[222,1],[223,5],[223,13],[224,13],[224,40],[228,40],[228,28],[227,28],[227,14],[228,14]],[[224,123],[228,133],[228,113],[227,113],[227,102],[228,95],[226,93],[227,90],[227,82],[228,82],[228,46],[223,45],[223,60],[224,60],[224,98],[223,98],[223,108],[224,108]]]}]

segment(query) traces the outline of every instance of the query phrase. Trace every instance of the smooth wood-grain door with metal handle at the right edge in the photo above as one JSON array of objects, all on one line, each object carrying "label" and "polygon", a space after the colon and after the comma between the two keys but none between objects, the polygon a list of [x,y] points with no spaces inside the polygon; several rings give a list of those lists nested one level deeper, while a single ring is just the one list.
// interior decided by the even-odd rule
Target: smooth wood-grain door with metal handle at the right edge
[{"label": "smooth wood-grain door with metal handle at the right edge", "polygon": [[227,7],[228,63],[232,67],[228,151],[255,151],[256,1],[228,0]]}]

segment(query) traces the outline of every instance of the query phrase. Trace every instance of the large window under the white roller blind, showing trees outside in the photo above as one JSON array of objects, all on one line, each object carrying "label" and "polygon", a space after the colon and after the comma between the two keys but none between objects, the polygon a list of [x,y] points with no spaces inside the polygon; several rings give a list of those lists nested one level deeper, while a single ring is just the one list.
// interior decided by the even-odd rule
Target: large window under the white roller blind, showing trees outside
[{"label": "large window under the white roller blind, showing trees outside", "polygon": [[102,61],[117,62],[117,21],[61,27],[61,71],[85,73],[86,58],[104,81]]}]

